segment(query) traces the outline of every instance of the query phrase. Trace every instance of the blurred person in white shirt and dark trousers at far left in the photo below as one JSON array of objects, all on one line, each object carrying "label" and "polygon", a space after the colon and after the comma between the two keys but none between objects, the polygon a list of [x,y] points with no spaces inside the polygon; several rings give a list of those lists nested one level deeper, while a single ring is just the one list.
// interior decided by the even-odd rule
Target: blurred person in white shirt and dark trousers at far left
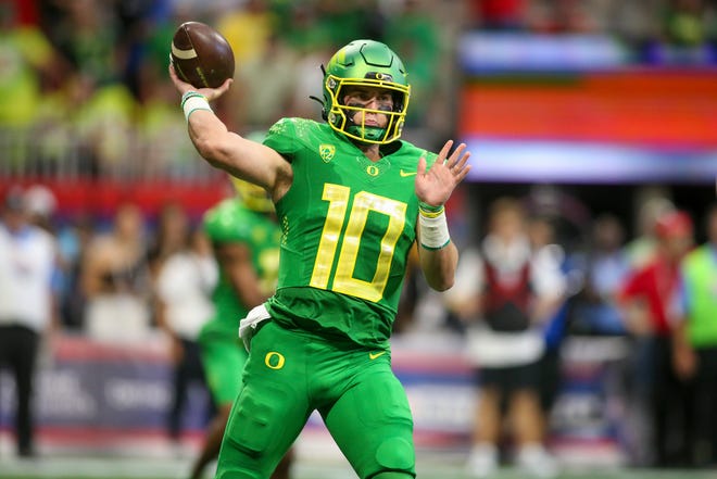
[{"label": "blurred person in white shirt and dark trousers at far left", "polygon": [[53,289],[56,260],[54,238],[30,223],[24,191],[12,187],[0,219],[0,368],[9,368],[15,381],[15,441],[21,457],[36,453],[33,390],[41,338],[59,325]]}]

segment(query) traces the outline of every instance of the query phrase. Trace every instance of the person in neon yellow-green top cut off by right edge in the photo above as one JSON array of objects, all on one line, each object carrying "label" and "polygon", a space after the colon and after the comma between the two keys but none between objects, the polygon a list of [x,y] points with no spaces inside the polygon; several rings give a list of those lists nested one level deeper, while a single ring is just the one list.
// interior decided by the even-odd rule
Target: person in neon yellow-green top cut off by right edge
[{"label": "person in neon yellow-green top cut off by right edge", "polygon": [[707,241],[681,264],[675,326],[675,368],[691,380],[690,464],[717,463],[717,204],[706,215]]}]

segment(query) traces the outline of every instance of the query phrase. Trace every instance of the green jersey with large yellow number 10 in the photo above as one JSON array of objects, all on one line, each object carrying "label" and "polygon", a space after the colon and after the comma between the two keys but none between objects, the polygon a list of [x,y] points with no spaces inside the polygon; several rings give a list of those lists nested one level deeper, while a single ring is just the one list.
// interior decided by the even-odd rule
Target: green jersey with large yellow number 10
[{"label": "green jersey with large yellow number 10", "polygon": [[284,235],[272,317],[385,348],[416,238],[418,159],[430,165],[436,154],[394,141],[372,162],[328,125],[303,118],[279,121],[264,143],[293,171],[276,204]]}]

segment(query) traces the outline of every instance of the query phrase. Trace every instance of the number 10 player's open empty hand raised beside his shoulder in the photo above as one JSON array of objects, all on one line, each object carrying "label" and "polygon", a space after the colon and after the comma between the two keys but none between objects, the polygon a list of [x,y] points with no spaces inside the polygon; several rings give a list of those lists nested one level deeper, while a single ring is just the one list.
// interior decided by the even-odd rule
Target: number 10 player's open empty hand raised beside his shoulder
[{"label": "number 10 player's open empty hand raised beside his shoulder", "polygon": [[436,163],[427,171],[426,159],[418,160],[416,173],[416,197],[431,206],[444,204],[453,189],[468,175],[470,165],[466,144],[461,143],[449,156],[453,140],[448,140],[436,159]]}]

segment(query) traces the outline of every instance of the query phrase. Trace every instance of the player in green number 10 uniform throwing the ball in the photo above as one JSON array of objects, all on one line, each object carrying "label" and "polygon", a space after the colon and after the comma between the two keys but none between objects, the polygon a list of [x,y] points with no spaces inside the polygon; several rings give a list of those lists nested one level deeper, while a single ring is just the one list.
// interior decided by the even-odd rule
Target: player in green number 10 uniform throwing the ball
[{"label": "player in green number 10 uniform throwing the ball", "polygon": [[453,285],[443,204],[469,154],[452,141],[436,155],[399,140],[410,86],[386,45],[352,41],[325,72],[327,123],[282,118],[260,144],[211,111],[230,80],[196,91],[169,67],[200,154],[266,189],[284,231],[277,291],[241,322],[250,353],[219,477],[268,477],[315,409],[358,477],[415,477],[389,338],[414,242],[428,283]]}]

